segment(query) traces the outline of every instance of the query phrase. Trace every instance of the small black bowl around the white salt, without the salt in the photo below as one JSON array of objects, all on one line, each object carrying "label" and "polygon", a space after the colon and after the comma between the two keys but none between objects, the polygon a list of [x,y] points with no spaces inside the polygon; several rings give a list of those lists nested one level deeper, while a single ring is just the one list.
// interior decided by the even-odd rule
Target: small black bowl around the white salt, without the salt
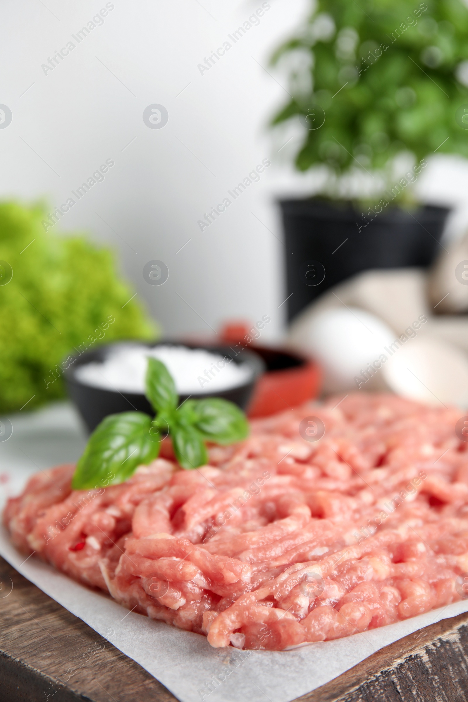
[{"label": "small black bowl around the white salt, without the salt", "polygon": [[[92,361],[104,361],[107,355],[115,347],[121,347],[126,342],[116,342],[105,344],[92,351],[85,351],[79,359],[76,359],[73,366],[64,372],[65,383],[67,385],[68,395],[72,402],[79,409],[79,413],[83,417],[88,430],[92,432],[98,424],[109,414],[118,412],[128,412],[138,410],[146,412],[149,416],[154,416],[154,410],[149,404],[145,395],[142,393],[119,392],[118,390],[104,390],[104,388],[93,388],[92,385],[85,385],[81,380],[76,378],[75,370],[79,366],[84,366]],[[250,380],[243,385],[237,385],[236,388],[223,390],[222,392],[213,393],[193,393],[192,395],[180,395],[180,403],[184,402],[188,397],[192,399],[203,399],[204,397],[223,397],[234,404],[239,405],[241,409],[246,409],[250,397],[252,396],[255,383],[259,376],[265,371],[265,363],[255,352],[243,349],[237,353],[229,346],[203,346],[199,344],[189,344],[173,341],[160,341],[158,343],[132,340],[127,342],[128,345],[135,343],[148,346],[150,348],[159,345],[187,346],[192,349],[203,349],[211,353],[218,353],[222,356],[230,358],[236,364],[246,363],[252,369]]]}]

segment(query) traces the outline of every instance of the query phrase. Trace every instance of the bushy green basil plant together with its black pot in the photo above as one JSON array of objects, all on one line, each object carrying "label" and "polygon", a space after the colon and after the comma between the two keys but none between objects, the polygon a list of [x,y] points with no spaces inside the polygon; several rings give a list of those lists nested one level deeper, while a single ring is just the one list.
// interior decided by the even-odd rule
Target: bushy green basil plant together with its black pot
[{"label": "bushy green basil plant together with its black pot", "polygon": [[272,62],[290,93],[272,124],[300,121],[295,168],[321,174],[315,197],[281,202],[291,319],[361,270],[424,267],[441,250],[448,210],[413,184],[433,154],[468,156],[468,7],[316,0]]}]

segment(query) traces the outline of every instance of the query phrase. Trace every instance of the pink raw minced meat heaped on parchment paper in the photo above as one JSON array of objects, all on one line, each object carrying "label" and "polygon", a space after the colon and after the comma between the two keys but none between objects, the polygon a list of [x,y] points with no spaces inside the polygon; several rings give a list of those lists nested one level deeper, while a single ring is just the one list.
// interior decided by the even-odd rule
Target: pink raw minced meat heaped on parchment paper
[{"label": "pink raw minced meat heaped on parchment paper", "polygon": [[[41,472],[4,522],[23,552],[214,647],[284,649],[460,600],[460,413],[339,399],[256,420],[197,470],[180,470],[165,445],[166,458],[105,489],[71,491],[73,466]],[[318,441],[300,436],[307,416],[323,421]]]}]

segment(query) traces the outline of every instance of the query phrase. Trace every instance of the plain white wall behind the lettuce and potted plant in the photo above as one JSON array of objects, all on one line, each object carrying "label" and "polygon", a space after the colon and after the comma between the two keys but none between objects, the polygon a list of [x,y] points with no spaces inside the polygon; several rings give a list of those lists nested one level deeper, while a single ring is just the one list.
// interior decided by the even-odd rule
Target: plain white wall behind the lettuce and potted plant
[{"label": "plain white wall behind the lettuce and potted plant", "polygon": [[[268,61],[309,3],[269,0],[260,25],[202,75],[197,65],[262,0],[112,0],[104,24],[44,74],[41,65],[68,41],[76,44],[72,34],[105,4],[4,0],[0,103],[13,121],[0,130],[0,197],[46,197],[57,206],[114,159],[104,182],[54,231],[85,230],[119,251],[123,271],[168,335],[269,314],[265,337],[278,336],[286,294],[274,201],[313,181],[285,165],[297,143],[294,128],[267,133],[269,117],[288,99],[284,77]],[[168,110],[161,129],[142,120],[152,103]],[[201,232],[203,213],[265,158],[273,164],[260,182]],[[467,172],[465,164],[455,175],[428,168],[421,192],[462,202]],[[152,259],[168,265],[163,286],[142,277]]]}]

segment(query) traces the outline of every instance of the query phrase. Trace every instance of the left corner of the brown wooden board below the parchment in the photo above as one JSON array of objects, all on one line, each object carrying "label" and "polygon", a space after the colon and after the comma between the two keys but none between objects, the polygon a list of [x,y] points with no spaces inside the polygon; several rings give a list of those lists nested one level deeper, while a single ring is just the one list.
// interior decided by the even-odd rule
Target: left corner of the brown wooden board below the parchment
[{"label": "left corner of the brown wooden board below the parchment", "polygon": [[[108,641],[99,653],[99,660],[90,658],[86,665],[77,668],[77,675],[69,677],[69,682],[61,680],[57,661],[60,661],[60,670],[76,668],[81,652],[96,640],[95,630],[42,592],[1,557],[0,577],[4,580],[11,578],[13,582],[11,595],[0,600],[2,609],[8,608],[1,611],[1,702],[17,699],[45,702],[49,692],[53,702],[85,699],[112,702],[115,698],[120,702],[133,702],[134,699],[142,702],[178,702],[159,680]],[[41,651],[50,651],[51,658],[44,660]],[[118,684],[116,687],[109,686],[109,675],[111,680],[116,680],[116,673],[119,673]],[[4,696],[7,685],[8,696]]]}]

